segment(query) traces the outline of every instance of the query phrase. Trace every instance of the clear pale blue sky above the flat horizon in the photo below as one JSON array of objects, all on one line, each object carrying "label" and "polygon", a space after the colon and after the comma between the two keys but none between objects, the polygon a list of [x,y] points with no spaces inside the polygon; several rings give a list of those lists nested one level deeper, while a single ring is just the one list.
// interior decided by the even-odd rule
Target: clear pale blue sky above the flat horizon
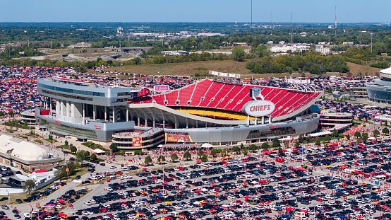
[{"label": "clear pale blue sky above the flat horizon", "polygon": [[[250,22],[251,0],[0,0],[0,22]],[[253,0],[253,23],[391,23],[390,0]],[[9,9],[7,9],[9,8]]]}]

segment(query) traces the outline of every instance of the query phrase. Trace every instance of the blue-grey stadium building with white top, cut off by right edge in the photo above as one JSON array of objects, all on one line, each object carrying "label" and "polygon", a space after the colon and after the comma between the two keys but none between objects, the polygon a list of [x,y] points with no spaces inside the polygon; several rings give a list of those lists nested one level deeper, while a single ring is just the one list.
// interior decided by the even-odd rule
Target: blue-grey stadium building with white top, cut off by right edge
[{"label": "blue-grey stadium building with white top, cut off by right edge", "polygon": [[368,99],[376,103],[391,104],[391,67],[380,70],[383,79],[375,79],[366,84]]}]

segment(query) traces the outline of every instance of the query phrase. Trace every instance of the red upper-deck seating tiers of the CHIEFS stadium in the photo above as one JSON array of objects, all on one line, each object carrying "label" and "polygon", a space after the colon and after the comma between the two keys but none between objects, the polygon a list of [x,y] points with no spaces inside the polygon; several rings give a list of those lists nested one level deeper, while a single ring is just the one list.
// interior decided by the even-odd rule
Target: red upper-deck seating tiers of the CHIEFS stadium
[{"label": "red upper-deck seating tiers of the CHIEFS stadium", "polygon": [[205,79],[169,93],[134,98],[133,103],[152,103],[155,100],[155,103],[167,107],[243,112],[243,105],[252,100],[249,95],[250,88],[261,88],[264,99],[275,104],[272,117],[288,115],[300,110],[321,94],[321,92],[301,92],[267,86],[229,85]]}]

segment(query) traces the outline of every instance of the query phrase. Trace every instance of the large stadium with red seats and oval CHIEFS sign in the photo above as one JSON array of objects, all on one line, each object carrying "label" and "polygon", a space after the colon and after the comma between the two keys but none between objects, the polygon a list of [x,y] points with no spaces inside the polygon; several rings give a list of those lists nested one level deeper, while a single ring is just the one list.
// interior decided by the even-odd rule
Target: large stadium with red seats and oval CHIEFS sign
[{"label": "large stadium with red seats and oval CHIEFS sign", "polygon": [[40,128],[114,141],[119,149],[150,149],[164,142],[221,146],[308,134],[318,129],[320,117],[311,107],[323,95],[211,79],[176,90],[157,86],[153,95],[146,88],[68,79],[39,79],[37,86],[47,100],[36,110]]}]

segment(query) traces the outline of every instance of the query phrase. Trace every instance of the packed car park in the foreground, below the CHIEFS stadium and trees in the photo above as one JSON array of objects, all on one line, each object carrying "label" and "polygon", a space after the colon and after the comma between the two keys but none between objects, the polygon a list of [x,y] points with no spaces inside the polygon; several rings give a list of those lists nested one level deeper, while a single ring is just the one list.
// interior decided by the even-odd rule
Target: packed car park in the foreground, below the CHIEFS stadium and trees
[{"label": "packed car park in the foreground, below the CHIEFS stadium and trees", "polygon": [[[306,149],[287,156],[284,164],[258,153],[136,175],[96,165],[99,172],[83,180],[88,175],[91,180],[116,175],[116,180],[95,185],[61,212],[80,219],[381,219],[389,216],[391,193],[386,180],[375,176],[388,173],[391,165],[378,148]],[[357,172],[343,171],[352,168]],[[75,195],[47,204],[59,199],[66,204]]]}]

